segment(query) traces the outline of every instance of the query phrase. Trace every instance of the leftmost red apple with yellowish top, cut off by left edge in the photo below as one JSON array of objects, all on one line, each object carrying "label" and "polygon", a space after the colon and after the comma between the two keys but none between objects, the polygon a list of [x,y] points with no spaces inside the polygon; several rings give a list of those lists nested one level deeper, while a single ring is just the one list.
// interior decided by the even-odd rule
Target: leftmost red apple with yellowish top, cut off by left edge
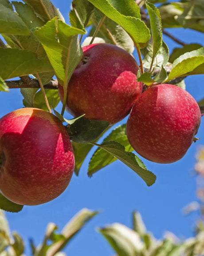
[{"label": "leftmost red apple with yellowish top, cut off by left edge", "polygon": [[35,108],[0,118],[0,192],[14,203],[38,205],[59,196],[75,166],[70,138],[53,114]]}]

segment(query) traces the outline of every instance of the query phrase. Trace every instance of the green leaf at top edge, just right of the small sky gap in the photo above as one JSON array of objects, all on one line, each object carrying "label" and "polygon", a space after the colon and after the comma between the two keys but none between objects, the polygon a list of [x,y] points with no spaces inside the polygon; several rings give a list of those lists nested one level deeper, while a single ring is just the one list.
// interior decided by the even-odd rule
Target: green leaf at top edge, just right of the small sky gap
[{"label": "green leaf at top edge, just right of the small sky gap", "polygon": [[69,13],[71,25],[84,30],[94,13],[94,5],[84,0],[73,0],[72,8]]}]

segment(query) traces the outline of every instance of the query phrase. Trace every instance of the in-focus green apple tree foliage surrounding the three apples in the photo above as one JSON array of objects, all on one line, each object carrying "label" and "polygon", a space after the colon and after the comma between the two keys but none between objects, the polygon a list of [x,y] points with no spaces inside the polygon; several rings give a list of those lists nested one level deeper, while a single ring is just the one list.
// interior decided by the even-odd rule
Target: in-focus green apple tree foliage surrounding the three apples
[{"label": "in-focus green apple tree foliage surrounding the three apples", "polygon": [[[109,130],[108,122],[83,116],[66,120],[65,102],[61,114],[55,110],[59,103],[55,78],[66,92],[82,58],[82,46],[94,39],[94,43],[110,43],[129,53],[136,49],[141,65],[137,80],[146,86],[170,81],[184,88],[184,77],[204,74],[204,47],[175,39],[182,47],[169,56],[162,35],[165,28],[179,27],[204,33],[203,4],[203,0],[73,0],[70,26],[50,0],[0,0],[0,90],[20,88],[25,107],[49,110],[45,91],[52,112],[71,136],[76,175],[89,151],[97,146],[90,159],[89,176],[119,159],[151,186],[156,176],[132,153],[126,125]],[[15,77],[20,80],[13,80]],[[204,111],[203,100],[199,104]],[[104,135],[107,130],[108,136]],[[102,136],[103,141],[98,142]],[[22,206],[0,195],[0,208],[17,212]]]}]

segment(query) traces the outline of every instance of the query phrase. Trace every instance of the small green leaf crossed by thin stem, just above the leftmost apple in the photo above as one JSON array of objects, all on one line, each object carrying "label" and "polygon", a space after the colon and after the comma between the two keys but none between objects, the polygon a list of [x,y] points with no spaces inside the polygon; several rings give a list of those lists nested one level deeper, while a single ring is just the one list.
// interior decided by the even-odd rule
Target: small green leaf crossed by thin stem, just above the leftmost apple
[{"label": "small green leaf crossed by thin stem, just above the leftmost apple", "polygon": [[[52,106],[53,108],[55,108],[60,101],[58,90],[45,89],[45,93],[46,93],[49,105]],[[37,109],[47,111],[47,105],[45,103],[41,89],[37,93],[35,93],[34,107]]]}]

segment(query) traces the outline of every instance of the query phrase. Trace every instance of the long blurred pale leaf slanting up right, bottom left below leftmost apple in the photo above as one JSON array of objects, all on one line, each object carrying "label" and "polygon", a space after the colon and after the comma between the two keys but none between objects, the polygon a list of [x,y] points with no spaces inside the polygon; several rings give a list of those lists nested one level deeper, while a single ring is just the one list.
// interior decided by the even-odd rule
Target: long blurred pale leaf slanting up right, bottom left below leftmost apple
[{"label": "long blurred pale leaf slanting up right, bottom left below leftmost apple", "polygon": [[62,235],[64,239],[52,244],[48,248],[46,256],[54,255],[53,252],[56,253],[62,250],[71,238],[96,214],[98,214],[98,211],[90,211],[86,208],[79,211],[63,228]]}]

